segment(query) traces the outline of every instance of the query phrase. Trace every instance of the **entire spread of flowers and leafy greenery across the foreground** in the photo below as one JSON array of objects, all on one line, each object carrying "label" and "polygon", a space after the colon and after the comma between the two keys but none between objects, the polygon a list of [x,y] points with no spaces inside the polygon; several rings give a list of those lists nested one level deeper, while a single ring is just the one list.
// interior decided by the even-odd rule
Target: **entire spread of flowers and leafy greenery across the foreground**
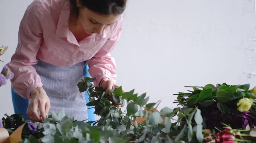
[{"label": "entire spread of flowers and leafy greenery across the foreground", "polygon": [[[1,47],[0,54],[6,50]],[[0,85],[4,85],[13,73],[4,66],[1,77]],[[193,87],[190,93],[177,94],[182,108],[164,107],[159,112],[156,109],[161,101],[148,103],[146,93],[122,93],[122,87],[106,93],[91,84],[94,80],[84,78],[77,86],[80,92],[89,93],[87,106],[95,109],[99,120],[76,121],[68,118],[64,109],[52,112],[43,123],[25,121],[20,114],[5,114],[0,119],[0,143],[256,142],[256,89],[249,90],[249,84]],[[116,103],[122,101],[122,107],[126,103],[125,112],[111,104],[109,94]],[[1,131],[7,133],[6,138],[1,138]]]}]

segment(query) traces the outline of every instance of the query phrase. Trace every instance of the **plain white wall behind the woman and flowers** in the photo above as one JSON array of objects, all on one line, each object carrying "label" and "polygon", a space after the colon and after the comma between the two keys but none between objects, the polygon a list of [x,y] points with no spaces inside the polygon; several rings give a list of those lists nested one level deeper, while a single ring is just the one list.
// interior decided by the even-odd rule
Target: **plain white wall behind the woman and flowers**
[{"label": "plain white wall behind the woman and flowers", "polygon": [[[0,44],[10,61],[17,30],[32,0],[0,0]],[[256,85],[255,0],[128,0],[123,33],[113,51],[118,82],[147,92],[158,109],[174,107],[185,85]],[[0,63],[2,67],[4,63]],[[10,81],[0,87],[0,117],[12,114]]]}]

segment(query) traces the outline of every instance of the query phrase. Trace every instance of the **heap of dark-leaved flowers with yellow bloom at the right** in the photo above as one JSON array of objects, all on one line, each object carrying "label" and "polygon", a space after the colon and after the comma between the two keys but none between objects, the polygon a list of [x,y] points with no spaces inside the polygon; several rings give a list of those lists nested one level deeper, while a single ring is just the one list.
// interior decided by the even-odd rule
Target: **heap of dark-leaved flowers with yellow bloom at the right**
[{"label": "heap of dark-leaved flowers with yellow bloom at the right", "polygon": [[193,90],[188,90],[188,93],[174,94],[178,95],[174,103],[183,107],[180,112],[195,107],[201,110],[201,123],[204,131],[208,133],[205,141],[256,142],[256,87],[249,90],[250,84],[223,83],[190,88]]}]

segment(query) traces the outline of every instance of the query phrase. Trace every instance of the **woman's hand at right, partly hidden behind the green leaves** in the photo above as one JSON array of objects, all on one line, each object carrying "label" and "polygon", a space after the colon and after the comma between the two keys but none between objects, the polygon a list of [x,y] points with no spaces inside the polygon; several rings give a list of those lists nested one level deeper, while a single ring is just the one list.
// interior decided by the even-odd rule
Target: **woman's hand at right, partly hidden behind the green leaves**
[{"label": "woman's hand at right, partly hidden behind the green leaves", "polygon": [[[113,89],[113,85],[116,87],[116,89],[120,86],[113,84],[113,81],[109,80],[109,79],[103,79],[101,82],[101,87],[106,90],[106,93],[108,93],[110,90]],[[125,90],[122,89],[122,92],[124,93]],[[122,102],[120,101],[120,103],[116,103],[113,99],[113,95],[110,93],[108,94],[108,100],[111,101],[113,103],[113,105],[115,107],[119,107],[122,105]]]}]

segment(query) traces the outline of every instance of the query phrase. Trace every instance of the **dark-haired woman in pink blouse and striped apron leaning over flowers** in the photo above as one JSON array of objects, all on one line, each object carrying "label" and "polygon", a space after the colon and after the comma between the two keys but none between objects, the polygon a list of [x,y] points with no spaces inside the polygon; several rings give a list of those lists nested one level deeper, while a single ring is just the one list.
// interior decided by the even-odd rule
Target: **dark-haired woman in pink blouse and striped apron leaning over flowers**
[{"label": "dark-haired woman in pink blouse and striped apron leaning over flowers", "polygon": [[126,0],[34,0],[7,64],[15,75],[15,113],[41,122],[64,108],[76,120],[94,120],[86,107],[88,95],[79,93],[77,84],[89,72],[95,86],[112,89],[116,65],[110,53],[122,31],[125,6]]}]

